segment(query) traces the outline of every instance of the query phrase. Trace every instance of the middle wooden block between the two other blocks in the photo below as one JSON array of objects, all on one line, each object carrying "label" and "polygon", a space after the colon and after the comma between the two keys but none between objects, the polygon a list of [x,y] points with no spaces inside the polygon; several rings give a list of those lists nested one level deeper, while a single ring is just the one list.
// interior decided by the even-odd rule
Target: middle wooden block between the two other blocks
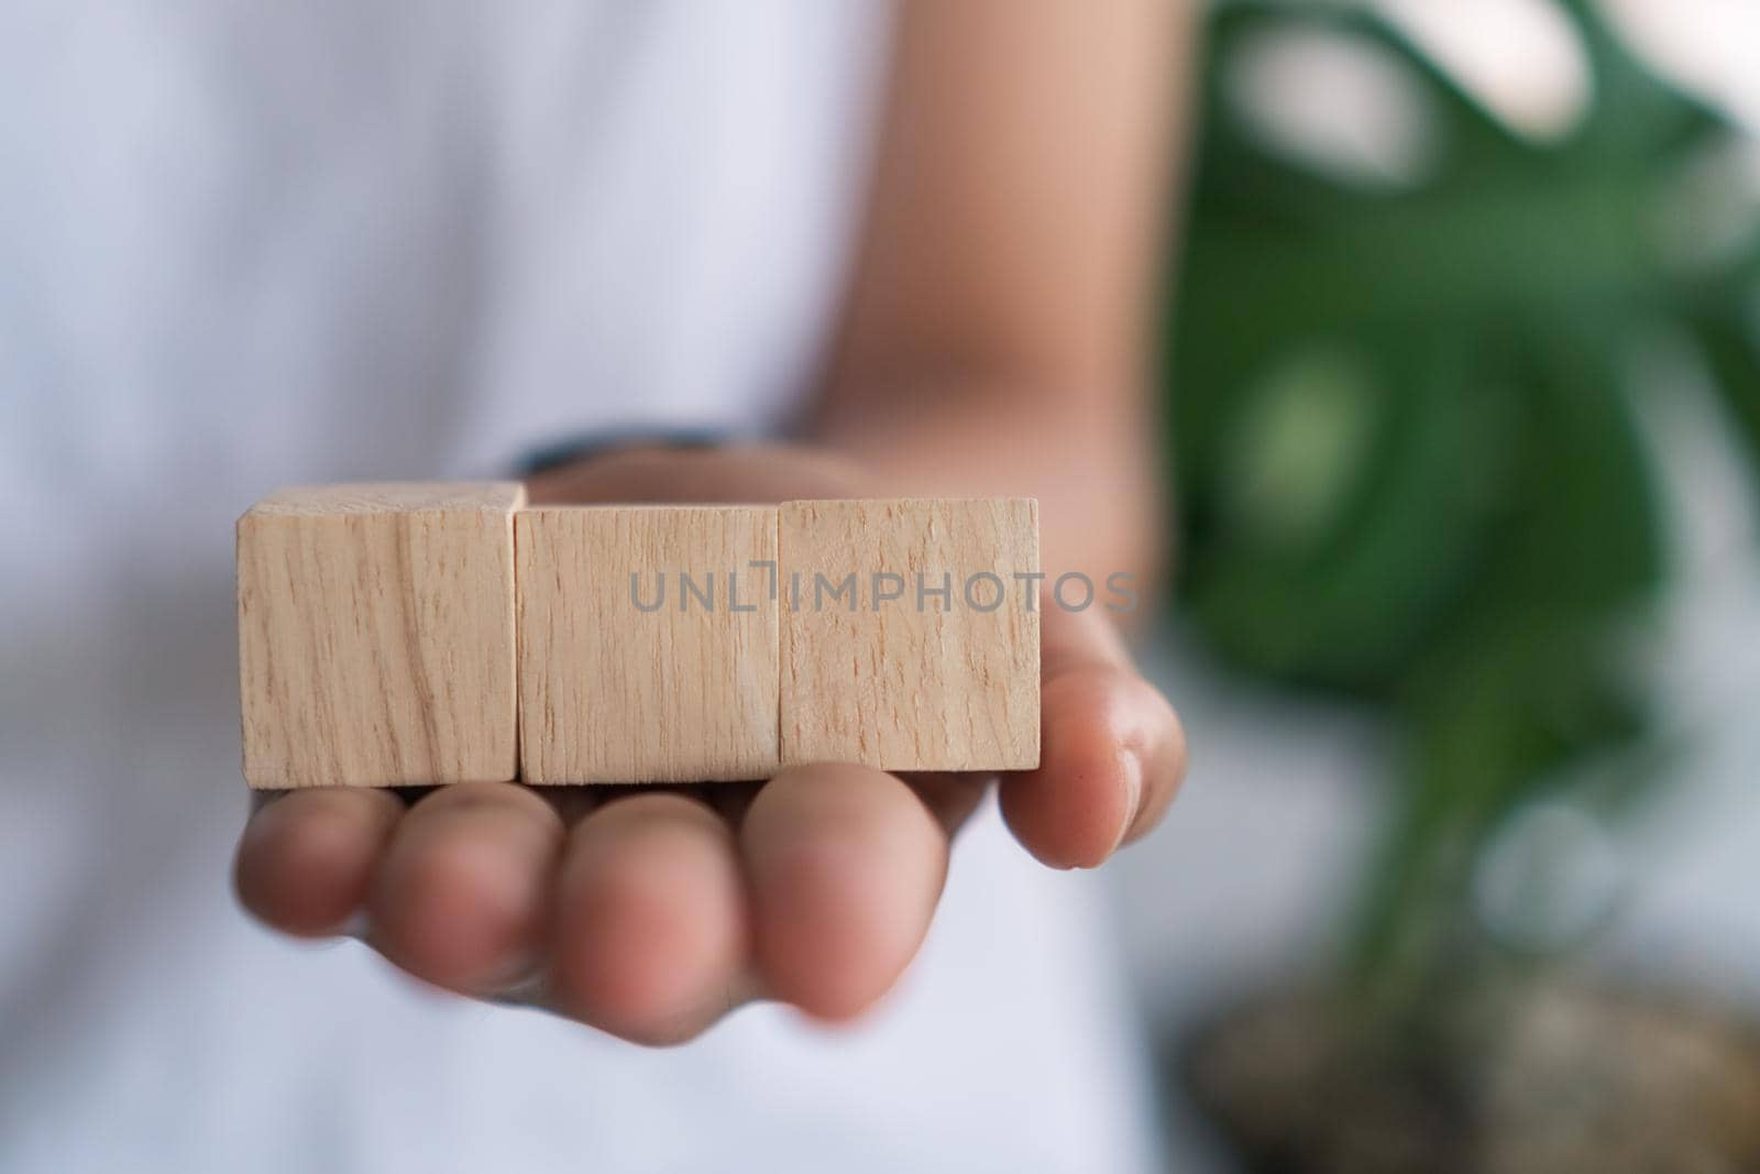
[{"label": "middle wooden block between the two other blocks", "polygon": [[532,509],[517,549],[524,781],[776,769],[774,509]]}]

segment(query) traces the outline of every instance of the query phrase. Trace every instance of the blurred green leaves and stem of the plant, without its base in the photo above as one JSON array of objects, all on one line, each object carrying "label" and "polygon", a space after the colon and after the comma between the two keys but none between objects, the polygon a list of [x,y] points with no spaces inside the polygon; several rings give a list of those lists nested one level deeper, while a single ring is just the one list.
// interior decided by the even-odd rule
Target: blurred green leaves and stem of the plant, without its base
[{"label": "blurred green leaves and stem of the plant, without its base", "polygon": [[[1498,820],[1646,730],[1619,648],[1667,535],[1632,340],[1697,340],[1760,454],[1760,216],[1707,167],[1739,136],[1588,0],[1559,7],[1593,99],[1554,141],[1512,132],[1364,9],[1211,16],[1167,327],[1181,609],[1241,669],[1404,729],[1355,963],[1406,986],[1459,936]],[[1228,70],[1288,30],[1410,76],[1434,123],[1422,176],[1360,183],[1267,141]]]}]

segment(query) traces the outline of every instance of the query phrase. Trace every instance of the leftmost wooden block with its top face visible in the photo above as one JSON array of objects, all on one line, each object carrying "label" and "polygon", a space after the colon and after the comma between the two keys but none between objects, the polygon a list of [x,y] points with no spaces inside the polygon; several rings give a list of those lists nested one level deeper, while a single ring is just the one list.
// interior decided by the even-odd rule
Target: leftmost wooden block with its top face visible
[{"label": "leftmost wooden block with its top face visible", "polygon": [[516,482],[282,489],[238,523],[252,787],[507,781]]}]

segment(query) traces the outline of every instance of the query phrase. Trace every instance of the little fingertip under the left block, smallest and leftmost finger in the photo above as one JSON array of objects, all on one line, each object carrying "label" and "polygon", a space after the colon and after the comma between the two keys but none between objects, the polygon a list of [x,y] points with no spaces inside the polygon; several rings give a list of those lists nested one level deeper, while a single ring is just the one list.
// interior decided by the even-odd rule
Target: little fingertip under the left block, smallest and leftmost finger
[{"label": "little fingertip under the left block, smallest and leftmost finger", "polygon": [[313,787],[262,803],[232,866],[239,903],[283,933],[341,933],[401,817],[401,799],[370,789]]}]

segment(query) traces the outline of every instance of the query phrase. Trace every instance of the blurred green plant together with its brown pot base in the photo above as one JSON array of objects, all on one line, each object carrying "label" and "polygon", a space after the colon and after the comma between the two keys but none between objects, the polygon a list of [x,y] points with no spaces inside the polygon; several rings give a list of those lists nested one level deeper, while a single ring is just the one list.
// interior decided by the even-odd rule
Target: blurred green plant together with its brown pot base
[{"label": "blurred green plant together with its brown pot base", "polygon": [[[1188,1049],[1253,1169],[1760,1169],[1755,1028],[1559,965],[1610,903],[1561,912],[1547,869],[1665,778],[1632,655],[1670,572],[1632,340],[1695,349],[1760,454],[1739,134],[1559,7],[1593,99],[1552,141],[1364,9],[1211,16],[1167,331],[1181,616],[1241,671],[1371,701],[1403,746],[1332,979]],[[1422,174],[1353,181],[1253,123],[1230,70],[1292,28],[1410,76]]]}]

